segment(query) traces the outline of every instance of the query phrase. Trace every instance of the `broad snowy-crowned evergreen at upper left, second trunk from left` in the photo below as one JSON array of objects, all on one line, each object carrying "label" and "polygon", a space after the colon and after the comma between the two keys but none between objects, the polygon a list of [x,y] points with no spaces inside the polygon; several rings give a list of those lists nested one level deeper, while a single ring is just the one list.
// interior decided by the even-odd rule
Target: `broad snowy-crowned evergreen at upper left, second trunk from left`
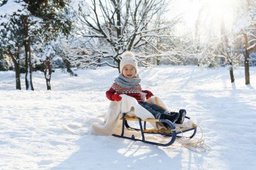
[{"label": "broad snowy-crowned evergreen at upper left, second trunk from left", "polygon": [[[13,43],[13,35],[21,34],[25,51],[26,89],[34,90],[32,84],[31,46],[57,38],[59,32],[69,34],[71,19],[69,1],[8,0],[1,3],[1,34],[7,44]],[[22,23],[22,26],[18,25]],[[15,29],[13,29],[16,28]],[[14,30],[15,33],[10,33]],[[7,38],[7,39],[6,39]]]}]

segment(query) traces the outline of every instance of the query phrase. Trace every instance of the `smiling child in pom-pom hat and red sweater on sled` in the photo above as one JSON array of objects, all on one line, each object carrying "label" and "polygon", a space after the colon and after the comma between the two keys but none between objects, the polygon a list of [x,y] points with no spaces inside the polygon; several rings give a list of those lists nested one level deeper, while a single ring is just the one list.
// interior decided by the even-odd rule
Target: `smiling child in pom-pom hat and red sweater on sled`
[{"label": "smiling child in pom-pom hat and red sweater on sled", "polygon": [[[150,99],[153,93],[148,90],[142,90],[141,79],[137,74],[137,61],[132,52],[125,52],[121,55],[122,59],[120,62],[120,74],[115,79],[112,87],[106,91],[106,97],[111,101],[120,101],[122,99],[120,94],[126,94],[137,99],[138,103],[146,108],[156,119],[167,119],[177,124],[182,124],[186,115],[185,110],[177,112],[169,112],[168,110],[162,109],[160,106],[144,102],[141,99],[141,92],[146,93],[146,98]],[[164,124],[166,126],[166,124]],[[166,126],[166,128],[169,128]]]}]

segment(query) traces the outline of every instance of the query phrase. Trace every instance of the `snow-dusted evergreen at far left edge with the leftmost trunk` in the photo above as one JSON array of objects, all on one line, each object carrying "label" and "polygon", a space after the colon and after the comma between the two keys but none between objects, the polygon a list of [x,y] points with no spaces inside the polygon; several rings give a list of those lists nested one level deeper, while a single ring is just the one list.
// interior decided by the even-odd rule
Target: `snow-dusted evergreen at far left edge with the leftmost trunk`
[{"label": "snow-dusted evergreen at far left edge with the leftmost trunk", "polygon": [[20,59],[24,46],[24,28],[21,15],[28,15],[27,4],[23,1],[2,1],[0,4],[0,42],[3,53],[9,55],[15,69],[16,89],[20,85]]}]

